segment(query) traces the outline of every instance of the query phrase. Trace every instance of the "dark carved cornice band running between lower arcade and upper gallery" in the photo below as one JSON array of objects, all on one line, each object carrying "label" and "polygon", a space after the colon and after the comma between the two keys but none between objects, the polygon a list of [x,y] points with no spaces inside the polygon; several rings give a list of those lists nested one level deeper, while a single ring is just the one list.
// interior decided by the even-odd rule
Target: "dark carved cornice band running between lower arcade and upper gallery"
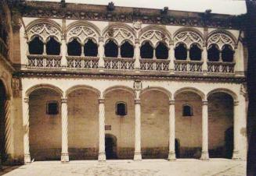
[{"label": "dark carved cornice band running between lower arcade and upper gallery", "polygon": [[23,70],[16,72],[13,76],[23,78],[91,78],[91,79],[150,79],[150,80],[171,80],[186,82],[204,83],[246,83],[245,77],[236,76],[199,76],[199,75],[169,75],[169,74],[139,74],[139,73],[117,73],[117,72],[62,72],[62,71],[36,71]]}]

